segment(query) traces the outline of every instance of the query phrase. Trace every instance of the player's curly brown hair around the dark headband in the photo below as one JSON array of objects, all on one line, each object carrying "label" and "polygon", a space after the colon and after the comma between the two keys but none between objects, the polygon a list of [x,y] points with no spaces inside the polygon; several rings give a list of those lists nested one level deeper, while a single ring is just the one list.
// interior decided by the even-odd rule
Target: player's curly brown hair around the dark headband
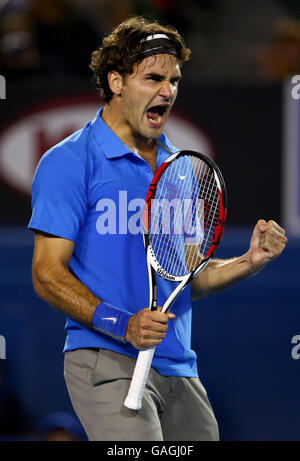
[{"label": "player's curly brown hair around the dark headband", "polygon": [[103,103],[108,103],[113,97],[108,84],[108,73],[115,70],[122,76],[130,75],[134,65],[130,57],[139,53],[140,41],[153,34],[165,34],[171,39],[180,66],[189,60],[191,51],[174,27],[163,26],[142,16],[131,17],[113,29],[91,56],[93,81]]}]

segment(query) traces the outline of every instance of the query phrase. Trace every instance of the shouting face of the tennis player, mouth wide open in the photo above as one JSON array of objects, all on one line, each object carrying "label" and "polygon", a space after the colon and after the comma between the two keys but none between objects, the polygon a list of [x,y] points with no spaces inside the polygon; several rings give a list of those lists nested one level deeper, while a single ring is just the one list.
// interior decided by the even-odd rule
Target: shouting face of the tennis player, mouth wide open
[{"label": "shouting face of the tennis player, mouth wide open", "polygon": [[169,54],[145,58],[124,77],[121,118],[134,136],[157,139],[162,134],[180,78],[178,61]]}]

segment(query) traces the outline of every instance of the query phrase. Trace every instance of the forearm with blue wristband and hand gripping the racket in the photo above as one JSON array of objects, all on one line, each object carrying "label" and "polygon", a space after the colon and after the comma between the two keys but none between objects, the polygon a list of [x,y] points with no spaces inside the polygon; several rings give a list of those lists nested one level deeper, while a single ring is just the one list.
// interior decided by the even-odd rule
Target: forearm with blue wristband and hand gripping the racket
[{"label": "forearm with blue wristband and hand gripping the racket", "polygon": [[44,265],[42,269],[35,266],[33,283],[36,293],[64,315],[114,339],[129,341],[138,349],[160,344],[167,329],[165,324],[175,318],[174,314],[152,312],[149,308],[132,315],[100,301],[61,265],[51,269]]}]

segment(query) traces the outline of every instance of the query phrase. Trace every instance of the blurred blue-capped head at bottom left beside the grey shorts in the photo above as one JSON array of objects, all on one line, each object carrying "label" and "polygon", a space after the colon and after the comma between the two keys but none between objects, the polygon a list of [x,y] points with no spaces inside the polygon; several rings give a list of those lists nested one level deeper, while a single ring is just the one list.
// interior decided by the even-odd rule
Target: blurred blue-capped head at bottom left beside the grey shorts
[{"label": "blurred blue-capped head at bottom left beside the grey shorts", "polygon": [[78,419],[65,412],[46,415],[37,427],[38,440],[43,442],[87,441],[86,434]]}]

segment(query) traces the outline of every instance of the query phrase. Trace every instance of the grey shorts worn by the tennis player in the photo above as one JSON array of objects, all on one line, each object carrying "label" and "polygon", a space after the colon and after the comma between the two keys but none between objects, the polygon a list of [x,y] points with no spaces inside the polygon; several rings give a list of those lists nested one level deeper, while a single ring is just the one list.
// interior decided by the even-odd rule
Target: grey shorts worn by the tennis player
[{"label": "grey shorts worn by the tennis player", "polygon": [[213,410],[198,378],[166,377],[151,368],[142,409],[126,408],[134,366],[134,359],[105,349],[66,352],[65,381],[89,440],[219,440]]}]

